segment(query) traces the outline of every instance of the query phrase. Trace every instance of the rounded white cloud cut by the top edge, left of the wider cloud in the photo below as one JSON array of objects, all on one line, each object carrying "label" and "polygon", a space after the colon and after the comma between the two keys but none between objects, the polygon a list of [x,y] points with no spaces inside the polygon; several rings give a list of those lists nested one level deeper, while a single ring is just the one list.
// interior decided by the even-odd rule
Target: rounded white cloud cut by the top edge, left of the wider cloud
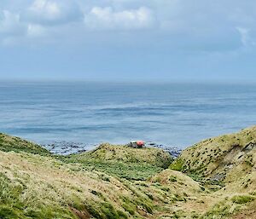
[{"label": "rounded white cloud cut by the top edge, left of the wider cloud", "polygon": [[22,15],[26,21],[45,26],[72,22],[83,16],[74,1],[66,0],[35,0]]}]

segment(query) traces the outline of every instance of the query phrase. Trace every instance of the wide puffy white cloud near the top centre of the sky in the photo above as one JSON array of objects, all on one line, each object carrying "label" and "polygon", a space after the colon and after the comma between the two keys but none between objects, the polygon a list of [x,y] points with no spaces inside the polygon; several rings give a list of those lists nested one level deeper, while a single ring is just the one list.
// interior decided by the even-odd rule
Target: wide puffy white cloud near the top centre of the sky
[{"label": "wide puffy white cloud near the top centre of the sky", "polygon": [[146,7],[122,11],[114,11],[112,7],[94,7],[85,15],[84,22],[96,30],[137,30],[153,27],[156,19]]}]

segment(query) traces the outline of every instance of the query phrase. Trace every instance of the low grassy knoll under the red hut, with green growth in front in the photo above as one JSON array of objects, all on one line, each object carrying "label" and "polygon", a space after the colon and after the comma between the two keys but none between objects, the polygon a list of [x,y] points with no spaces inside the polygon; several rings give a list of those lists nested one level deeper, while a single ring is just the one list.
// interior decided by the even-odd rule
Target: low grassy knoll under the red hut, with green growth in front
[{"label": "low grassy knoll under the red hut, with green growth in front", "polygon": [[98,170],[127,180],[145,181],[172,163],[168,153],[156,148],[143,150],[102,144],[88,153],[62,157],[66,163],[82,164],[86,170]]}]

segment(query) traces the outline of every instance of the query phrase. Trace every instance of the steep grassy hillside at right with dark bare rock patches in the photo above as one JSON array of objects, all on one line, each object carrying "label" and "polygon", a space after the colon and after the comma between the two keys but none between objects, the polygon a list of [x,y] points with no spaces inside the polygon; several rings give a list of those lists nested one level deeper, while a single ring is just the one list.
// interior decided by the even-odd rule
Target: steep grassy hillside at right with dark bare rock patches
[{"label": "steep grassy hillside at right with dark bare rock patches", "polygon": [[216,182],[247,179],[256,168],[256,126],[201,141],[184,150],[171,168]]}]

